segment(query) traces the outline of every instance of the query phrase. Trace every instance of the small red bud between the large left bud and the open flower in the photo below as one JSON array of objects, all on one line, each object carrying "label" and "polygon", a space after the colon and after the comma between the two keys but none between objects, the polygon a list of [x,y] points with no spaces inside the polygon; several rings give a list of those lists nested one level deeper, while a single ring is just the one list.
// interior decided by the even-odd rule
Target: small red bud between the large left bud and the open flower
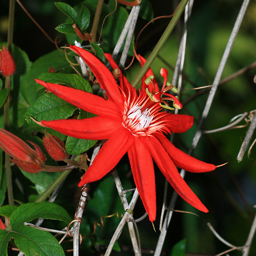
[{"label": "small red bud between the large left bud and the open flower", "polygon": [[66,152],[64,142],[55,135],[51,135],[46,132],[42,138],[42,143],[52,159],[62,161],[69,157],[69,154]]}]

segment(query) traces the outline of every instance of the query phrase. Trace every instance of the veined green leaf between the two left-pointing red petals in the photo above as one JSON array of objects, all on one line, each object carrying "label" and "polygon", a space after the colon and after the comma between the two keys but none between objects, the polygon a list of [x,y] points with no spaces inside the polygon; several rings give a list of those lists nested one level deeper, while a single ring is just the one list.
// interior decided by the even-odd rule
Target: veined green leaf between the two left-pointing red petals
[{"label": "veined green leaf between the two left-pointing red petals", "polygon": [[72,116],[75,109],[75,106],[52,93],[47,93],[39,97],[34,104],[29,106],[26,116],[28,122],[33,122],[30,117],[33,117],[36,121],[67,119],[67,117]]}]

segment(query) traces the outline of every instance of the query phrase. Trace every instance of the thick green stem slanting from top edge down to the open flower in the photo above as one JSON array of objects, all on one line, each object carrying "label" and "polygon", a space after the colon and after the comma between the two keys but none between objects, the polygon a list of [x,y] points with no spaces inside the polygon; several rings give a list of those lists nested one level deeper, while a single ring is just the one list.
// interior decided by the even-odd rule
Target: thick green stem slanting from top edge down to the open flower
[{"label": "thick green stem slanting from top edge down to the open flower", "polygon": [[147,72],[147,69],[151,66],[153,63],[154,59],[157,57],[159,54],[160,50],[164,46],[165,42],[170,36],[170,33],[174,30],[174,27],[176,26],[177,22],[179,21],[179,18],[184,12],[185,6],[189,0],[182,0],[179,3],[179,6],[177,6],[177,9],[175,10],[174,16],[170,20],[168,26],[166,27],[164,34],[160,37],[159,41],[157,42],[157,45],[154,47],[154,50],[151,52],[150,56],[147,58],[147,61],[145,62],[144,66],[142,69],[140,69],[139,73],[137,76],[135,76],[134,81],[132,81],[132,86],[136,86],[139,81],[142,79],[144,76],[145,72]]}]

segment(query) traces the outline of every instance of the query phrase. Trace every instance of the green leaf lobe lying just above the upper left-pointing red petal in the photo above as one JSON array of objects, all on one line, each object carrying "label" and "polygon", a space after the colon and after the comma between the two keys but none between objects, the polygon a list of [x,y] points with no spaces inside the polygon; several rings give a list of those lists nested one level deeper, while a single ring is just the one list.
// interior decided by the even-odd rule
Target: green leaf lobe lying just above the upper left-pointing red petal
[{"label": "green leaf lobe lying just above the upper left-pointing red petal", "polygon": [[[66,86],[86,92],[92,92],[89,82],[77,74],[42,73],[39,79],[53,84],[65,84]],[[41,86],[42,87],[42,86]]]}]

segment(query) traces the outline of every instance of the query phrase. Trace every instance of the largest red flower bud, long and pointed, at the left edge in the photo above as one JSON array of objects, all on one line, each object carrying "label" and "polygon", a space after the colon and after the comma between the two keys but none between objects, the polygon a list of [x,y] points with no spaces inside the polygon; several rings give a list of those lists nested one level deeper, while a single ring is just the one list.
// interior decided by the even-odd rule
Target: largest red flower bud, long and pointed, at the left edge
[{"label": "largest red flower bud, long and pointed, at the left edge", "polygon": [[38,145],[30,143],[36,150],[16,135],[0,128],[0,147],[13,158],[11,161],[25,172],[41,172],[44,170],[46,156]]}]

